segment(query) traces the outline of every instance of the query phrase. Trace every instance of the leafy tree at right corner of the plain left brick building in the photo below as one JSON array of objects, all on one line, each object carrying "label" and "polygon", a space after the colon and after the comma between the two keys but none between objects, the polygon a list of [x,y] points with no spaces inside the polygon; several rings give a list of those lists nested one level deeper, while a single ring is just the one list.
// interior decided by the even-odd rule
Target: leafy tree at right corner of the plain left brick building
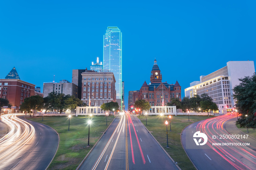
[{"label": "leafy tree at right corner of the plain left brick building", "polygon": [[44,99],[41,96],[31,96],[29,98],[25,98],[24,102],[20,105],[20,110],[41,110],[44,106]]}]

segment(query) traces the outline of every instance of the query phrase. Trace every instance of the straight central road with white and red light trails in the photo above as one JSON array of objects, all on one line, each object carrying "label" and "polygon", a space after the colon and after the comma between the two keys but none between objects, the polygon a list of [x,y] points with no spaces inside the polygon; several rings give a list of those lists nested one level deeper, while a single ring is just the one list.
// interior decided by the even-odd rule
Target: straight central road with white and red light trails
[{"label": "straight central road with white and red light trails", "polygon": [[81,170],[177,169],[135,115],[118,115]]}]

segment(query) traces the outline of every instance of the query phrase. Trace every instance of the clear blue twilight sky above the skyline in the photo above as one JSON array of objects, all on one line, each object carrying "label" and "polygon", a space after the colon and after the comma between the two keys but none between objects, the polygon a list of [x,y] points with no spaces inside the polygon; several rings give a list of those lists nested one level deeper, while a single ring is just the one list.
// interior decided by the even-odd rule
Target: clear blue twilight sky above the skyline
[{"label": "clear blue twilight sky above the skyline", "polygon": [[[0,78],[36,86],[103,62],[107,27],[123,34],[125,105],[157,59],[163,81],[189,87],[230,60],[256,62],[256,1],[0,1]],[[126,107],[127,108],[127,107]]]}]

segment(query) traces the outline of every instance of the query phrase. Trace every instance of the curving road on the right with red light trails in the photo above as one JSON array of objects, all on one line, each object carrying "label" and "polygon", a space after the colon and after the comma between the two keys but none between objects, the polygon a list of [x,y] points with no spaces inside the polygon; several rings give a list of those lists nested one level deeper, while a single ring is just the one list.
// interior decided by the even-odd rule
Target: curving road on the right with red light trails
[{"label": "curving road on the right with red light trails", "polygon": [[[256,170],[256,140],[239,131],[235,127],[236,120],[236,115],[227,114],[193,123],[184,129],[182,145],[197,169]],[[199,144],[205,139],[196,137],[197,131],[207,135],[205,145]],[[238,146],[240,143],[249,143],[249,146]]]}]

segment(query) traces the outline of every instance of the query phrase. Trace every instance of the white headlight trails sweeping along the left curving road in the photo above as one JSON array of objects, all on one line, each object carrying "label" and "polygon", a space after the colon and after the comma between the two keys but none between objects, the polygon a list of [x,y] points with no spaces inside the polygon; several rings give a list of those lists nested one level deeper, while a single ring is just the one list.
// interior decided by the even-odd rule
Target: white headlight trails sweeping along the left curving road
[{"label": "white headlight trails sweeping along the left curving road", "polygon": [[32,124],[19,119],[17,115],[24,114],[1,115],[2,121],[5,122],[11,130],[0,139],[0,162],[17,153],[17,151],[22,149],[35,134],[35,129]]}]

